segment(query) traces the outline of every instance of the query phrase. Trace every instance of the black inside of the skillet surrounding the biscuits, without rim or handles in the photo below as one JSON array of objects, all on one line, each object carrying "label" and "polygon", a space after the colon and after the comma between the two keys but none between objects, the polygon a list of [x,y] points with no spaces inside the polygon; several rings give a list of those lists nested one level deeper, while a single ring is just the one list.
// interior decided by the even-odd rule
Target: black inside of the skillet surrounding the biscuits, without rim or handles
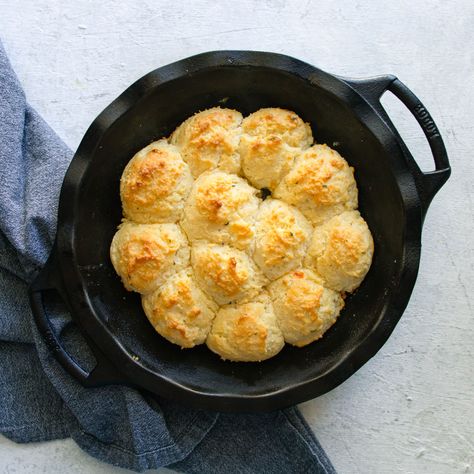
[{"label": "black inside of the skillet surrounding the biscuits, without rim or handles", "polygon": [[[284,107],[311,123],[316,141],[334,146],[354,166],[360,211],[375,241],[369,274],[324,338],[302,349],[287,344],[261,363],[223,362],[205,346],[181,350],[167,342],[148,323],[139,296],[123,288],[109,260],[121,219],[119,179],[128,160],[193,113],[216,105],[244,115],[261,107]],[[224,66],[184,75],[136,102],[107,129],[88,160],[74,217],[83,285],[112,337],[151,371],[203,393],[266,394],[327,373],[383,320],[401,277],[406,232],[393,157],[348,104],[317,84],[266,67]]]}]

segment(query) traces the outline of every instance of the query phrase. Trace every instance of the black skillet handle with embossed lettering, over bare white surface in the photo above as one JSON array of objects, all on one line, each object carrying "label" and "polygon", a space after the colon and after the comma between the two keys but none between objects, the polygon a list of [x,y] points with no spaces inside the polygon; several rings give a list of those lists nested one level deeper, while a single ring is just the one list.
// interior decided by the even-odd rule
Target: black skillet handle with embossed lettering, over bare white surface
[{"label": "black skillet handle with embossed lettering, over bare white surface", "polygon": [[[433,197],[451,174],[448,154],[436,123],[418,97],[395,76],[387,75],[374,77],[372,79],[346,80],[346,82],[356,89],[356,91],[376,109],[377,113],[382,116],[384,121],[387,122],[389,127],[395,132],[409,160],[408,164],[414,171],[417,188],[423,204],[424,217]],[[380,98],[386,91],[390,91],[395,95],[407,107],[420,125],[430,145],[431,153],[433,154],[435,162],[434,171],[421,171],[411,153],[408,151],[395,125],[380,103]]]}]

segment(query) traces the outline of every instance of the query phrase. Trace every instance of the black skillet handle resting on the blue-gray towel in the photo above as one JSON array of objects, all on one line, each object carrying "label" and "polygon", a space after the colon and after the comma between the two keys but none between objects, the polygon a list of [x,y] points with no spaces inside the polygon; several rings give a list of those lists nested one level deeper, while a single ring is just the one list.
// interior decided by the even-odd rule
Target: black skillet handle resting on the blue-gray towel
[{"label": "black skillet handle resting on the blue-gray towel", "polygon": [[55,333],[51,321],[46,314],[43,299],[45,291],[54,290],[60,295],[64,302],[67,302],[62,286],[58,274],[56,247],[54,247],[46,265],[29,288],[30,305],[33,316],[48,349],[63,368],[85,387],[98,387],[101,385],[120,383],[121,381],[123,383],[123,377],[120,378],[117,369],[112,366],[102,351],[83,331],[81,331],[81,334],[86,339],[97,361],[97,365],[90,372],[84,370],[61,344],[60,338]]}]

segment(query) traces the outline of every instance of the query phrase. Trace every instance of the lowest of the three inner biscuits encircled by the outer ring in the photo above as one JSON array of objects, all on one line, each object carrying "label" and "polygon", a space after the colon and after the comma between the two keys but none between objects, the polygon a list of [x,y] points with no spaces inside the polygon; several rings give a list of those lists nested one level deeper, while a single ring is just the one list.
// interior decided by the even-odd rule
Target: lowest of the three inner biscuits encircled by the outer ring
[{"label": "lowest of the three inner biscuits encircled by the outer ring", "polygon": [[227,245],[195,243],[191,263],[199,285],[218,304],[253,298],[266,283],[246,253]]}]

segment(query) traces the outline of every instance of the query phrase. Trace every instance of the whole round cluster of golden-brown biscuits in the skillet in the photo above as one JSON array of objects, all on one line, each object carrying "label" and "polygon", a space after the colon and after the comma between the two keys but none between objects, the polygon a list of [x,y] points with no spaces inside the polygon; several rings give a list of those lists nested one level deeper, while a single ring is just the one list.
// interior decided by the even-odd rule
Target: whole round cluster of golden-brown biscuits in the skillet
[{"label": "whole round cluster of golden-brown biscuits in the skillet", "polygon": [[212,108],[127,164],[111,260],[156,331],[261,361],[331,327],[373,240],[354,170],[294,112]]}]

